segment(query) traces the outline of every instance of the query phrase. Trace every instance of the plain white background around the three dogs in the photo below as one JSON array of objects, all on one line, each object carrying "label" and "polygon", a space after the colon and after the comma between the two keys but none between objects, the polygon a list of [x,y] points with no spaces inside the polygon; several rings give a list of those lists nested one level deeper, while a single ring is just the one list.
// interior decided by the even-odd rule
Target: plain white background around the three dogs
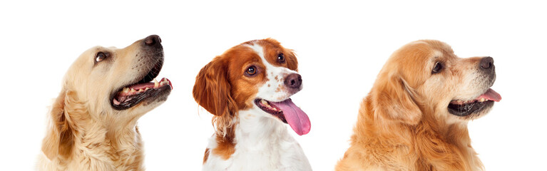
[{"label": "plain white background around the three dogs", "polygon": [[[92,46],[123,48],[150,34],[163,40],[160,73],[169,99],[140,118],[148,170],[200,170],[210,114],[191,91],[213,57],[252,39],[295,49],[305,88],[292,96],[310,116],[292,135],[315,170],[344,154],[362,98],[400,46],[430,38],[460,57],[492,56],[503,99],[469,122],[486,170],[545,170],[546,5],[527,1],[2,1],[0,170],[34,170],[48,106],[68,66]],[[287,128],[290,129],[290,127]]]}]

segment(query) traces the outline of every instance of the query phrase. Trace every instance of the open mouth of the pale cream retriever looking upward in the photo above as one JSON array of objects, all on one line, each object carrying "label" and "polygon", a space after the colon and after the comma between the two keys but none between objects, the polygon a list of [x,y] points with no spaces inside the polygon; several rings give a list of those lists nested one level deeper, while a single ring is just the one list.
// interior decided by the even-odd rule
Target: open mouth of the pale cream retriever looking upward
[{"label": "open mouth of the pale cream retriever looking upward", "polygon": [[112,95],[112,107],[116,110],[125,110],[143,100],[158,98],[160,95],[170,93],[170,90],[173,89],[171,81],[167,78],[161,78],[160,81],[155,79],[160,73],[162,64],[156,63],[142,79],[118,89]]}]

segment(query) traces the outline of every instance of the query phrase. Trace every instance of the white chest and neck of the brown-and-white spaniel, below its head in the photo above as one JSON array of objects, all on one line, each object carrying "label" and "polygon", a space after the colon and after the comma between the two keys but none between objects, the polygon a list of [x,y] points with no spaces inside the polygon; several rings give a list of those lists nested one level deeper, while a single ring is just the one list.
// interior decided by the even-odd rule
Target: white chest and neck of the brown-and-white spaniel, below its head
[{"label": "white chest and neck of the brown-and-white spaniel, below its head", "polygon": [[[286,125],[268,115],[270,114],[259,108],[240,110],[235,125],[228,129],[225,137],[217,135],[215,142],[210,143],[210,149],[205,152],[204,168],[279,170],[288,167],[283,166],[287,165],[287,161],[282,159],[291,157],[297,157],[298,161],[302,160],[307,164],[305,156],[302,156],[302,150],[298,150],[300,146],[287,132]],[[213,157],[208,158],[209,150],[214,154]],[[303,163],[298,162],[295,165],[304,168]]]}]

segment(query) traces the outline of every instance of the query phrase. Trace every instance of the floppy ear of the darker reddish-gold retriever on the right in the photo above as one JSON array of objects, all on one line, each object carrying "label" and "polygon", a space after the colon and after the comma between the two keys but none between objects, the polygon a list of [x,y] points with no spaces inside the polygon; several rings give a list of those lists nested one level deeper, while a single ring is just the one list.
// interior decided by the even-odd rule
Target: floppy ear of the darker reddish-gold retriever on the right
[{"label": "floppy ear of the darker reddish-gold retriever on the right", "polygon": [[421,110],[412,98],[412,90],[406,85],[397,74],[379,77],[372,93],[376,115],[409,125],[419,123]]}]

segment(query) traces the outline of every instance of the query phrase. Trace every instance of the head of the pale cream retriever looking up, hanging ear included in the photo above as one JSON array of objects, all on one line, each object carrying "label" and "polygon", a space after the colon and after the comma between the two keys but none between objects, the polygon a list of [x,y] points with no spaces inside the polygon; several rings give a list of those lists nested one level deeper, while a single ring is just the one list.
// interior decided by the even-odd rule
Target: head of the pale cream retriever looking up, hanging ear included
[{"label": "head of the pale cream retriever looking up, hanging ear included", "polygon": [[170,94],[170,81],[155,81],[162,66],[163,46],[155,35],[126,48],[96,46],[83,52],[68,69],[53,104],[44,153],[50,159],[68,154],[73,135],[89,118],[111,128],[136,123]]}]

